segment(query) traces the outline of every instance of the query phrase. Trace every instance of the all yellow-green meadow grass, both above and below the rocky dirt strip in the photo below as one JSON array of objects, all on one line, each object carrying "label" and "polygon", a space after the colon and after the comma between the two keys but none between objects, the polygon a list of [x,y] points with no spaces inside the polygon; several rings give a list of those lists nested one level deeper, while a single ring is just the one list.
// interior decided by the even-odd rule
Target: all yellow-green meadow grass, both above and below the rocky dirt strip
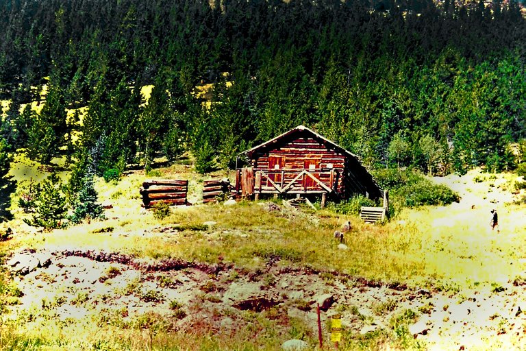
[{"label": "all yellow-green meadow grass, both above and below the rocky dirt strip", "polygon": [[[47,171],[19,157],[10,175],[19,185],[27,185],[45,178]],[[61,177],[65,179],[66,175],[62,173]],[[462,178],[440,178],[438,182],[460,193],[459,203],[404,208],[384,225],[366,224],[358,217],[326,209],[290,209],[281,204],[281,199],[242,201],[235,206],[199,204],[203,180],[224,176],[223,172],[198,175],[191,162],[183,160],[149,175],[130,171],[118,182],[99,178],[99,202],[112,205],[105,211],[106,219],[52,232],[23,222],[29,215],[16,207],[18,193],[14,193],[14,219],[1,224],[1,228],[12,228],[14,235],[0,243],[1,252],[9,256],[25,248],[96,250],[146,261],[178,258],[209,265],[228,263],[245,274],[265,271],[268,261],[278,258],[277,264],[284,269],[303,267],[319,274],[401,283],[452,295],[491,291],[526,279],[526,247],[522,245],[526,205],[505,202],[514,189],[511,174],[489,176],[472,171]],[[189,200],[194,205],[173,207],[167,217],[156,218],[153,210],[140,206],[138,192],[142,182],[151,178],[188,179]],[[492,191],[488,193],[487,189]],[[499,233],[488,226],[491,208],[499,211]],[[345,237],[348,249],[338,250],[333,234],[347,220],[352,226]],[[207,222],[210,225],[203,226]],[[179,234],[164,236],[166,228],[175,228]],[[297,319],[270,318],[268,313],[244,312],[243,324],[232,335],[218,335],[205,322],[195,332],[177,332],[165,328],[171,323],[169,319],[149,313],[132,324],[123,323],[118,313],[110,311],[91,312],[83,320],[57,320],[53,308],[42,307],[43,302],[42,308],[36,302],[34,311],[13,314],[9,311],[10,305],[16,305],[17,282],[19,278],[5,272],[1,350],[278,350],[284,332],[290,337],[303,335],[316,344],[312,326]],[[53,304],[60,306],[56,300]],[[199,313],[199,304],[190,310]],[[375,332],[349,337],[352,343],[342,350],[425,349],[412,337],[407,339],[407,333],[403,337],[394,335]]]}]

